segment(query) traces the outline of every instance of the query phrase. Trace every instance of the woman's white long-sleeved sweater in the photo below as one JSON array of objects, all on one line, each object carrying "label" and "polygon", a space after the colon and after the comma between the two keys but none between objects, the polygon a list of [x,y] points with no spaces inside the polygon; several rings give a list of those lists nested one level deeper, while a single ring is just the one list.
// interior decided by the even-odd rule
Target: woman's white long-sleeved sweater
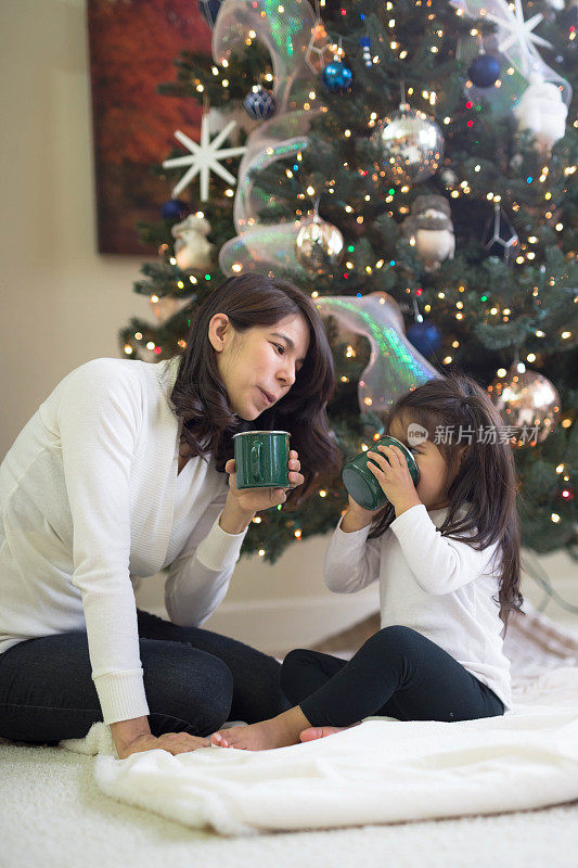
[{"label": "woman's white long-sleeved sweater", "polygon": [[170,620],[197,626],[227,592],[245,536],[218,519],[227,475],[191,458],[169,405],[178,358],[72,371],[0,465],[0,653],[87,630],[105,724],[149,714],[131,579],[170,564]]}]

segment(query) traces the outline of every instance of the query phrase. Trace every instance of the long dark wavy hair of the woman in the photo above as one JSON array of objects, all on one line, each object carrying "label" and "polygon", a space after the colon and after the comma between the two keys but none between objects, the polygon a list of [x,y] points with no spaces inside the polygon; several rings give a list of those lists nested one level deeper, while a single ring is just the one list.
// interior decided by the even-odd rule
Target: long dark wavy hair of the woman
[{"label": "long dark wavy hair of the woman", "polygon": [[285,280],[266,275],[240,275],[223,281],[201,305],[187,336],[170,398],[182,418],[187,455],[211,454],[217,469],[233,456],[232,436],[257,425],[239,419],[229,407],[217,354],[208,337],[215,314],[226,314],[235,332],[256,326],[273,326],[301,314],[309,327],[309,348],[291,390],[258,418],[262,431],[291,434],[291,446],[299,452],[305,483],[287,495],[300,500],[313,480],[335,472],[341,452],[330,433],[325,407],[335,384],[333,355],[319,312],[300,290]]}]

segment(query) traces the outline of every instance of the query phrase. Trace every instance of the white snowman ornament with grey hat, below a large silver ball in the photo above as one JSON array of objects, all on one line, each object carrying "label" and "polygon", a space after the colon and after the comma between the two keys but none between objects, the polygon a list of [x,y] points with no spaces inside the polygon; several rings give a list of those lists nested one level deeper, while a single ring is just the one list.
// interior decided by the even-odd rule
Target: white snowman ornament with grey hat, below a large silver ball
[{"label": "white snowman ornament with grey hat, below a large silver ball", "polygon": [[444,196],[418,196],[409,217],[401,224],[401,233],[415,245],[426,269],[439,268],[442,259],[453,259],[455,237],[450,205]]}]

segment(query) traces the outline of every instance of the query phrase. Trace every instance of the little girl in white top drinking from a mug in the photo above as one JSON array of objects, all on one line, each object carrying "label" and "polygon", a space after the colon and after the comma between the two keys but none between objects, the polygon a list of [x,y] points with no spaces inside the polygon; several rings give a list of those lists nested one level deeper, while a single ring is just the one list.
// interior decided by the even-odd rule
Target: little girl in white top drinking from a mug
[{"label": "little girl in white top drinking from a mug", "polygon": [[282,746],[370,715],[453,722],[508,710],[502,641],[522,596],[514,460],[488,395],[459,374],[395,404],[387,433],[412,448],[418,487],[399,448],[369,451],[388,503],[372,513],[349,498],[325,558],[325,583],[338,593],[380,579],[381,630],[349,662],[292,651],[281,684],[294,707],[214,733],[215,744]]}]

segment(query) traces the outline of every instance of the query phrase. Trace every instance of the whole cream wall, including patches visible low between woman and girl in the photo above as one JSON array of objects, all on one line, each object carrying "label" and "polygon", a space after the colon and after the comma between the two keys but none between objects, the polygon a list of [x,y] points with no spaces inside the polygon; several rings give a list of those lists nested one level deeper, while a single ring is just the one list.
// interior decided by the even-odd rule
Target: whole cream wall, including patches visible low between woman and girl
[{"label": "whole cream wall, including patches visible low between woman and girl", "polygon": [[[0,39],[1,459],[56,383],[89,359],[118,356],[117,330],[149,306],[132,292],[139,257],[95,253],[84,0],[3,0]],[[244,559],[207,626],[280,652],[373,611],[375,588],[343,597],[324,589],[324,546],[296,542],[275,567]],[[545,563],[578,603],[576,565],[563,554]],[[539,601],[535,588],[528,596]],[[138,599],[159,610],[162,579],[143,582]],[[548,611],[567,617],[558,607]]]}]

